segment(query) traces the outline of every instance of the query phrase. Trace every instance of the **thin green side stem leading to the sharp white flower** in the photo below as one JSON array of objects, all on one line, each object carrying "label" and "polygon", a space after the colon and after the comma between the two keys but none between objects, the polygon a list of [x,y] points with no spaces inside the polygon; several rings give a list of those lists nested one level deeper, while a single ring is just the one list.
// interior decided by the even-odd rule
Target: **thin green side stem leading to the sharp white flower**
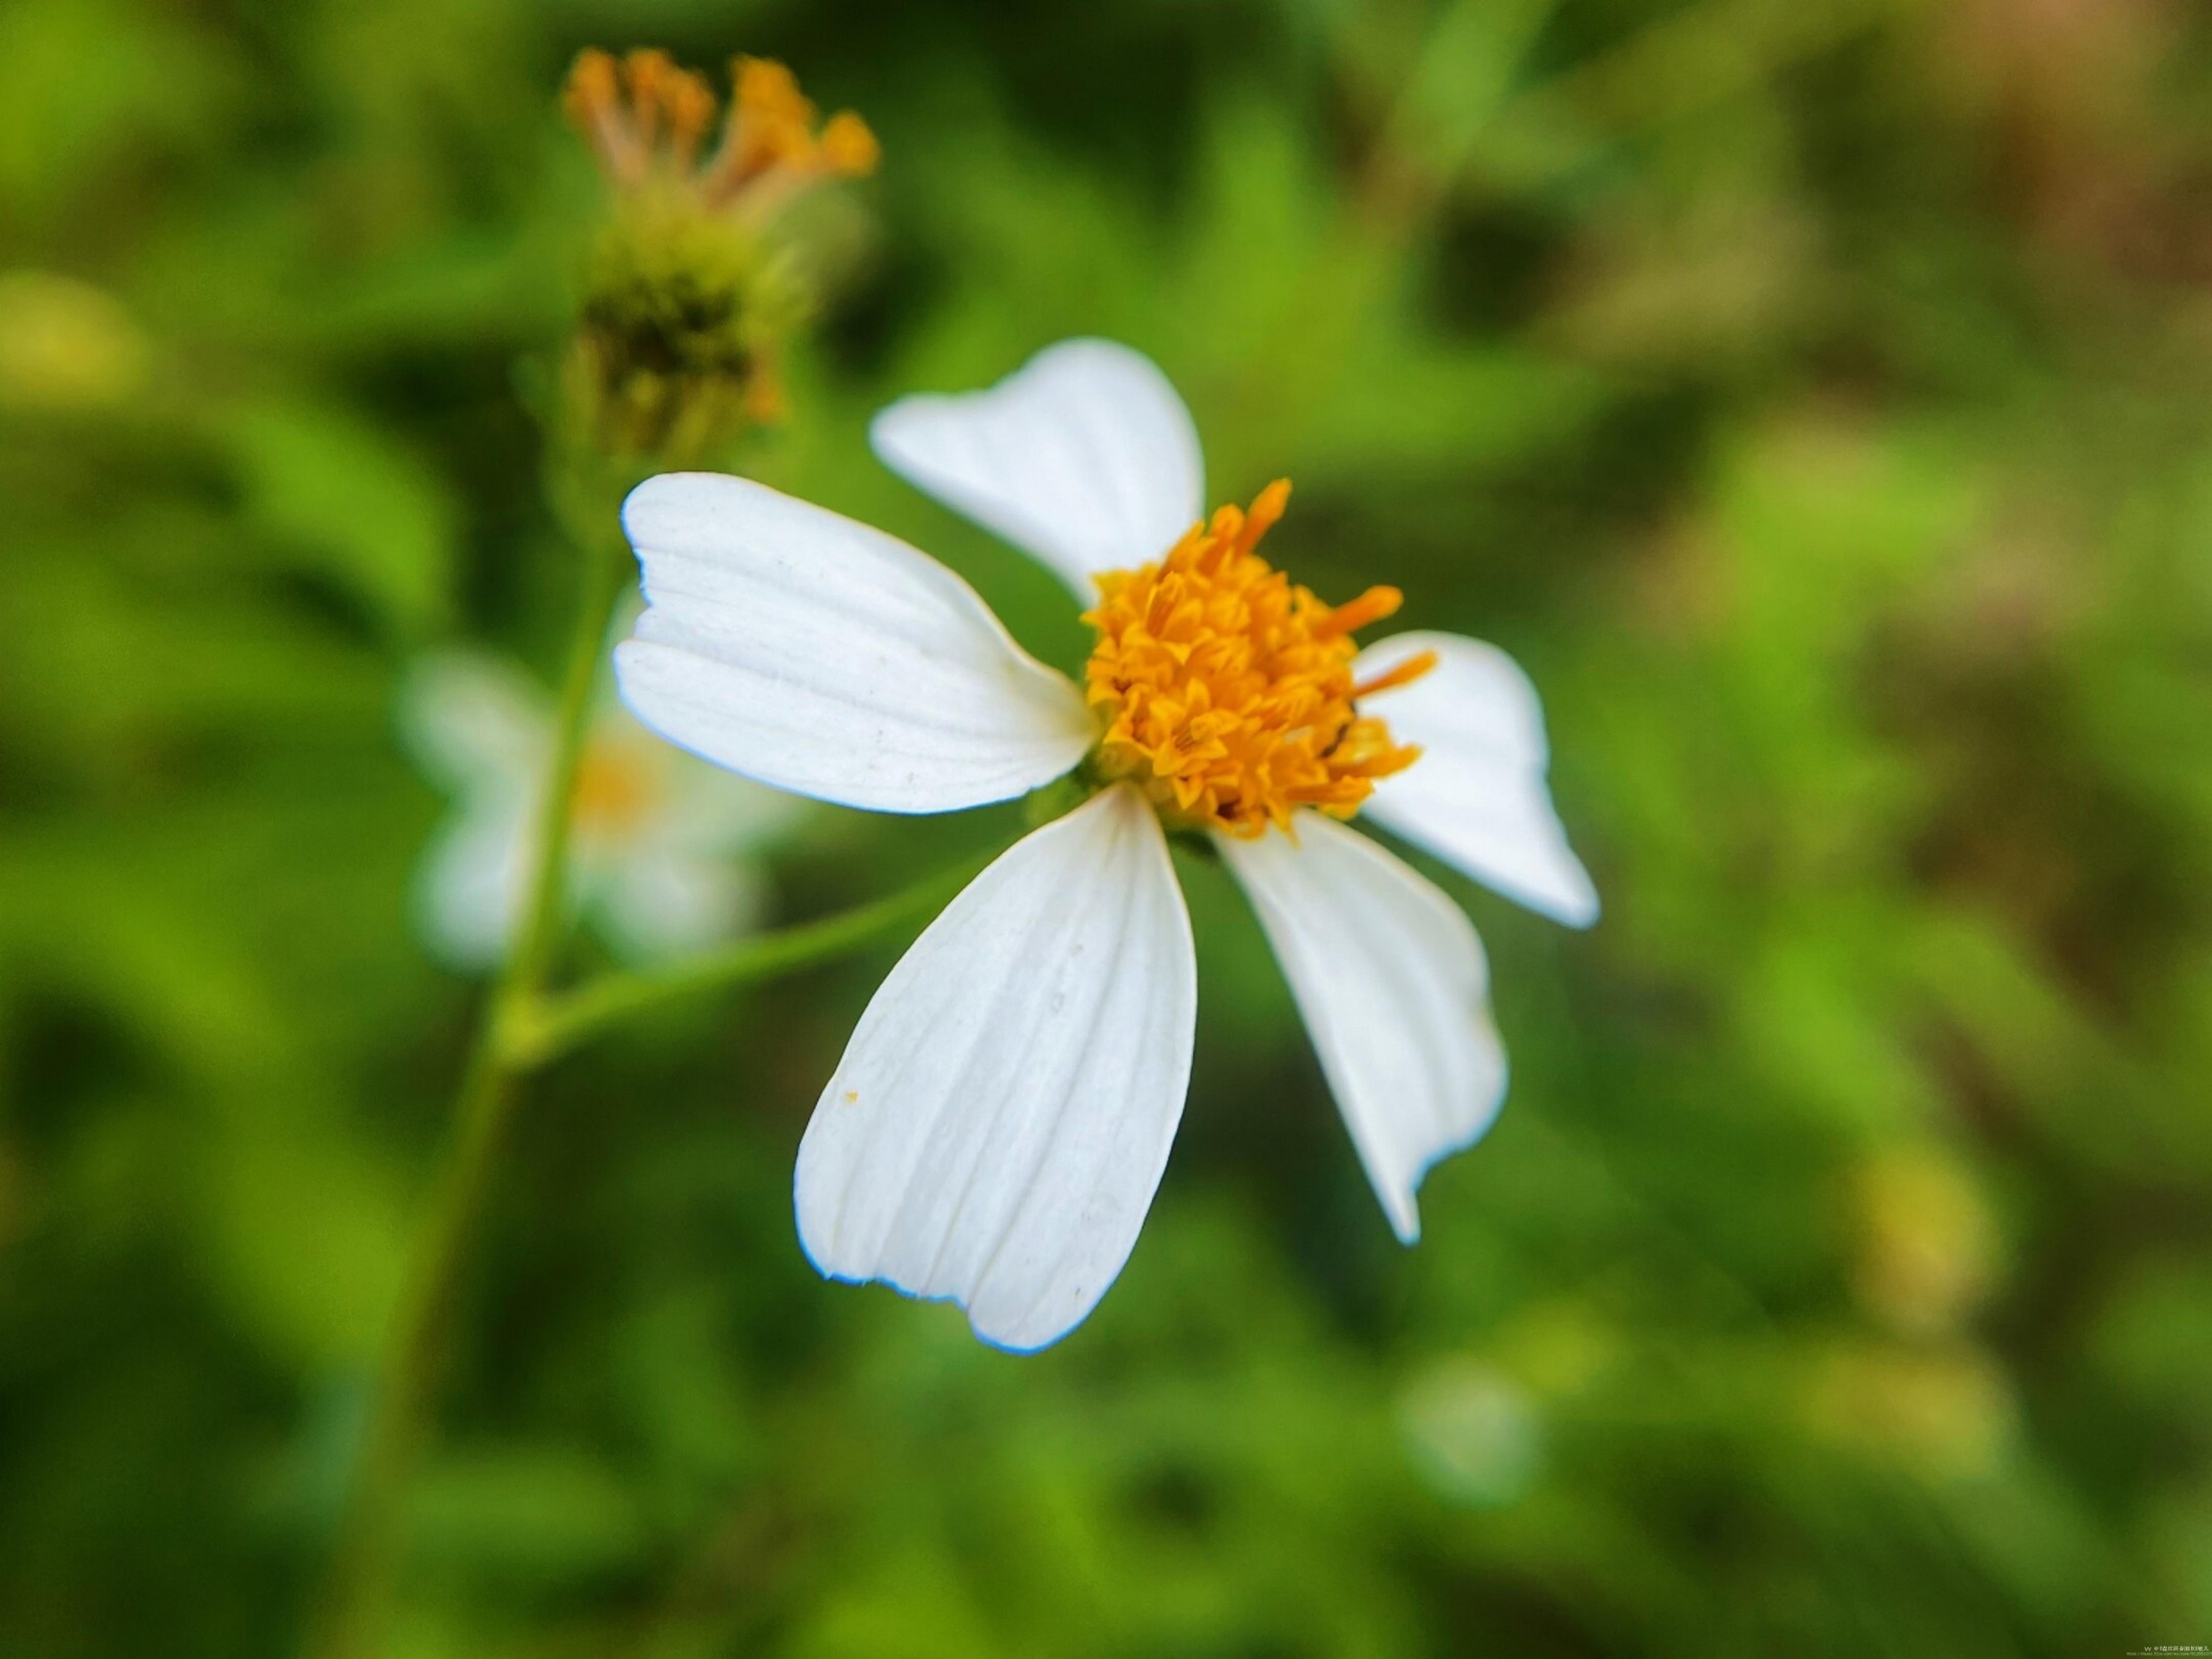
[{"label": "thin green side stem leading to the sharp white flower", "polygon": [[500,1031],[500,1057],[513,1071],[529,1071],[557,1060],[580,1042],[588,1042],[606,1026],[619,1024],[635,1013],[708,991],[759,984],[761,980],[845,956],[918,916],[940,909],[995,856],[993,852],[953,869],[940,869],[889,898],[878,898],[836,916],[801,922],[774,933],[757,933],[714,956],[701,956],[648,973],[608,973],[580,991],[538,998],[533,1004],[515,1006],[511,1020]]}]

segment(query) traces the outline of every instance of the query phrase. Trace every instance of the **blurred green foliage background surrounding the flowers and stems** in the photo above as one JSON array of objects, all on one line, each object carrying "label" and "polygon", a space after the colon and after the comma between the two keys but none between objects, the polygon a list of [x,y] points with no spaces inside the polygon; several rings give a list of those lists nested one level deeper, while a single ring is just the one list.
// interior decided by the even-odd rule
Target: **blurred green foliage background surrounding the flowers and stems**
[{"label": "blurred green foliage background surrounding the flowers and stems", "polygon": [[[2201,4],[11,0],[0,1655],[299,1639],[478,1000],[396,688],[551,672],[573,595],[529,409],[584,44],[883,137],[761,478],[1075,666],[865,420],[1144,347],[1212,498],[1296,480],[1272,557],[1535,675],[1606,918],[1431,867],[1515,1082],[1405,1252],[1186,869],[1190,1110],[1040,1358],[799,1254],[896,945],[564,1062],[396,1652],[2212,1641]],[[823,812],[772,909],[1015,827]]]}]

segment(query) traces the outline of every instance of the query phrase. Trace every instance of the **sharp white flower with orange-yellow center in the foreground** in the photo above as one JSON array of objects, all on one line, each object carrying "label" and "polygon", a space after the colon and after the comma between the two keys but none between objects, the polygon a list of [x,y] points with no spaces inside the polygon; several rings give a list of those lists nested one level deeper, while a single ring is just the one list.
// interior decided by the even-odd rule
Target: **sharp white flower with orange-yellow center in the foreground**
[{"label": "sharp white flower with orange-yellow center in the foreground", "polygon": [[[812,1261],[953,1298],[1009,1349],[1091,1312],[1190,1082],[1197,958],[1164,821],[1210,834],[1250,894],[1411,1243],[1422,1172],[1482,1135],[1506,1062],[1467,916],[1340,818],[1365,801],[1522,902],[1595,920],[1526,677],[1455,635],[1354,657],[1349,630],[1396,591],[1329,608],[1270,571],[1254,546],[1287,484],[1201,522],[1190,416],[1126,347],[1068,341],[989,392],[907,398],[874,442],[1093,606],[1086,688],[905,542],[672,473],[624,509],[650,606],[615,653],[630,708],[710,761],[878,812],[1004,801],[1077,765],[1104,787],[978,876],[869,1002],[799,1148]],[[1387,726],[1354,706],[1385,690]]]}]

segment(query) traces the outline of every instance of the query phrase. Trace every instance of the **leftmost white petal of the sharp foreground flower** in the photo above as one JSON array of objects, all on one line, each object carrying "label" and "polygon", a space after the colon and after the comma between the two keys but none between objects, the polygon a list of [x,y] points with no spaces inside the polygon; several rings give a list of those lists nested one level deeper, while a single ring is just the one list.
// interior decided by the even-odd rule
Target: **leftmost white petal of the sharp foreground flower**
[{"label": "leftmost white petal of the sharp foreground flower", "polygon": [[958,575],[905,542],[719,473],[630,491],[646,615],[615,650],[661,737],[876,812],[951,812],[1082,759],[1082,692],[1024,655]]}]

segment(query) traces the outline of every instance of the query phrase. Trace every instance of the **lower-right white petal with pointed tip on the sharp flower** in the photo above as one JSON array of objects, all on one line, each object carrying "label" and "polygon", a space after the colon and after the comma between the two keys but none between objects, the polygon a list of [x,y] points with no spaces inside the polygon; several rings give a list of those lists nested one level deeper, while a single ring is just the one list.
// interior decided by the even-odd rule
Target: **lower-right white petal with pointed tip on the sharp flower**
[{"label": "lower-right white petal with pointed tip on the sharp flower", "polygon": [[1482,940],[1367,836],[1318,812],[1296,823],[1296,841],[1214,841],[1267,929],[1367,1179],[1413,1243],[1420,1177],[1480,1137],[1506,1093]]}]

